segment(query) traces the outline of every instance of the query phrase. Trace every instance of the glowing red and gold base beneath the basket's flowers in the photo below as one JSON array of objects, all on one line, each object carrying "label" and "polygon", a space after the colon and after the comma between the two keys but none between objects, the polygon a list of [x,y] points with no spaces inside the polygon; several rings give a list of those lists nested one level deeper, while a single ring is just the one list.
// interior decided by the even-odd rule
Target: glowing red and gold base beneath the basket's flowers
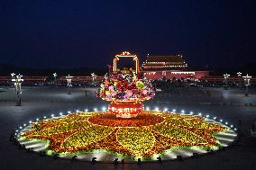
[{"label": "glowing red and gold base beneath the basket's flowers", "polygon": [[142,102],[112,102],[108,104],[108,111],[117,118],[134,118],[144,111]]}]

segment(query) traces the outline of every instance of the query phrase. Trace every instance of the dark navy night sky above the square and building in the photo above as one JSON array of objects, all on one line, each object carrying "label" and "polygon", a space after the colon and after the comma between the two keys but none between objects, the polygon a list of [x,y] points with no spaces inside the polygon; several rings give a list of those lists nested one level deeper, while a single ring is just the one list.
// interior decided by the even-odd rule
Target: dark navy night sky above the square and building
[{"label": "dark navy night sky above the square and building", "polygon": [[0,2],[0,64],[105,67],[124,50],[181,53],[188,66],[256,58],[255,0]]}]

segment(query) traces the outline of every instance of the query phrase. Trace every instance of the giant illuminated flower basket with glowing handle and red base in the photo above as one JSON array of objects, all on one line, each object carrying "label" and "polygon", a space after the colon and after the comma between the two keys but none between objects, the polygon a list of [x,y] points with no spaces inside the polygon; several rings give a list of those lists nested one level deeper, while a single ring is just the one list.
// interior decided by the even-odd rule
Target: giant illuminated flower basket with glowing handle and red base
[{"label": "giant illuminated flower basket with glowing handle and red base", "polygon": [[[116,62],[119,58],[133,58],[136,62],[135,69],[117,69]],[[113,67],[105,75],[97,96],[105,101],[111,101],[108,111],[119,118],[133,118],[143,112],[142,101],[150,100],[155,91],[151,82],[143,76],[138,67],[139,60],[129,52],[116,55]]]}]

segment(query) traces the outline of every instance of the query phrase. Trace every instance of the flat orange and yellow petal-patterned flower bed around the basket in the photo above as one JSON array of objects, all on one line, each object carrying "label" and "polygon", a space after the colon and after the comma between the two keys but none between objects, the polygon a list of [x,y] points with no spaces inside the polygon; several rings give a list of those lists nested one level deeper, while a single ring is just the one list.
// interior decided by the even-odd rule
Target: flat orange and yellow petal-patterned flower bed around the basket
[{"label": "flat orange and yellow petal-patterned flower bed around the basket", "polygon": [[79,112],[33,122],[31,129],[21,132],[18,139],[48,141],[44,150],[51,154],[100,152],[135,160],[163,156],[172,148],[218,148],[221,145],[215,135],[228,130],[199,116],[170,112],[143,112],[132,119],[116,118],[106,112]]}]

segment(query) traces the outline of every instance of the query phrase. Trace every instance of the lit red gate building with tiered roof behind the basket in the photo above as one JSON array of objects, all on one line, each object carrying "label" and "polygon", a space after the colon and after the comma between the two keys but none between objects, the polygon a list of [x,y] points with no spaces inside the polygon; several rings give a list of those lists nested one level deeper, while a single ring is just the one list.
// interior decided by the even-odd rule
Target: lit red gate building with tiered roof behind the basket
[{"label": "lit red gate building with tiered roof behind the basket", "polygon": [[187,67],[187,63],[182,58],[182,55],[148,55],[146,61],[142,63],[142,72],[149,79],[160,79],[163,77],[167,79],[200,79],[209,76],[209,71],[207,70]]}]

